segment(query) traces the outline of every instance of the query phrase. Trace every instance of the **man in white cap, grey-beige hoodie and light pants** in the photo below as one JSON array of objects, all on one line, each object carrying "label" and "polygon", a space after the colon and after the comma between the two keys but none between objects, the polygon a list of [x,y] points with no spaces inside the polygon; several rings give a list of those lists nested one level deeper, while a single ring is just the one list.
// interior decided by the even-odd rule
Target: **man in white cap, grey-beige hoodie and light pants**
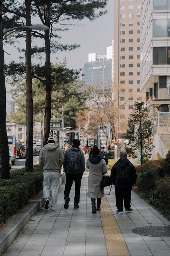
[{"label": "man in white cap, grey-beige hoodie and light pants", "polygon": [[52,136],[48,138],[48,144],[41,148],[39,152],[39,164],[44,170],[43,195],[46,200],[45,209],[48,209],[50,202],[49,189],[52,192],[51,210],[55,210],[57,204],[57,194],[60,181],[60,170],[63,164],[63,151],[55,144],[56,139]]}]

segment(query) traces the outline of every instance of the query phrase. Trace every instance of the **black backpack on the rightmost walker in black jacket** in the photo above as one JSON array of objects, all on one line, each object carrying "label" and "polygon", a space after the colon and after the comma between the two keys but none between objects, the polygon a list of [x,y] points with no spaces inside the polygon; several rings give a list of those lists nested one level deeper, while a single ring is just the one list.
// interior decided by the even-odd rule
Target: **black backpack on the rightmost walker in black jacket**
[{"label": "black backpack on the rightmost walker in black jacket", "polygon": [[128,166],[119,166],[116,172],[116,181],[118,184],[128,185],[132,183],[130,168]]}]

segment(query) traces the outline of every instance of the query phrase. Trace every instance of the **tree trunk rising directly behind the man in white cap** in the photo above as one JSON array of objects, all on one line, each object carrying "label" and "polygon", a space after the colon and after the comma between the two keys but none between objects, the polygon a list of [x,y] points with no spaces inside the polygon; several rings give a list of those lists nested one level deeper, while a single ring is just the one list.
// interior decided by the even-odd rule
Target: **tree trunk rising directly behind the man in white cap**
[{"label": "tree trunk rising directly behind the man in white cap", "polygon": [[[50,27],[50,3],[47,6],[46,12],[46,26]],[[44,126],[44,145],[47,144],[47,140],[50,134],[50,120],[51,120],[51,51],[50,51],[50,30],[45,30],[45,48],[46,48],[46,62],[45,62],[45,77],[46,77],[46,106],[45,106],[45,126]]]}]

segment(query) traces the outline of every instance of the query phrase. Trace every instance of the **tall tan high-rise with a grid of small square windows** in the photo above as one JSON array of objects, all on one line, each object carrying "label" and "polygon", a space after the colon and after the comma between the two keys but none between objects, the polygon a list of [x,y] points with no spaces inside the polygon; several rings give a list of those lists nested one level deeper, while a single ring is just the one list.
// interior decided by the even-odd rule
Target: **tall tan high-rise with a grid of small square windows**
[{"label": "tall tan high-rise with a grid of small square windows", "polygon": [[114,87],[118,94],[117,137],[123,138],[127,119],[140,92],[140,0],[115,0]]}]

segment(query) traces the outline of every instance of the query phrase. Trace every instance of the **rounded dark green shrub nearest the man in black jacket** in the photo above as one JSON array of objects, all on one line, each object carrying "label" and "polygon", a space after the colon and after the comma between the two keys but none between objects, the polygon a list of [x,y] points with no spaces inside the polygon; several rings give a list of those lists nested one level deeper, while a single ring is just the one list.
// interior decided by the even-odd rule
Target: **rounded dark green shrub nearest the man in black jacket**
[{"label": "rounded dark green shrub nearest the man in black jacket", "polygon": [[140,191],[148,193],[156,186],[157,178],[157,171],[148,170],[147,172],[138,174],[136,185]]}]

